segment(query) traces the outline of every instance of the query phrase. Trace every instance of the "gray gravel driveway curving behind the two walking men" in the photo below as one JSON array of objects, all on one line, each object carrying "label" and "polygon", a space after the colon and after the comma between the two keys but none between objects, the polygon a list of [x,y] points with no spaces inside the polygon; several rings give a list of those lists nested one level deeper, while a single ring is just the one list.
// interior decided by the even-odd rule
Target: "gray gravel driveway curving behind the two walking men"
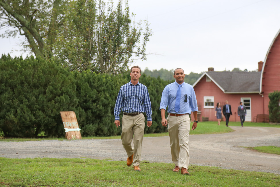
[{"label": "gray gravel driveway curving behind the two walking men", "polygon": [[[225,134],[190,135],[190,164],[280,174],[280,155],[260,153],[241,147],[280,146],[280,128],[230,128],[235,131]],[[120,139],[1,141],[0,146],[0,157],[5,158],[127,158]],[[172,163],[169,137],[144,138],[142,160]]]}]

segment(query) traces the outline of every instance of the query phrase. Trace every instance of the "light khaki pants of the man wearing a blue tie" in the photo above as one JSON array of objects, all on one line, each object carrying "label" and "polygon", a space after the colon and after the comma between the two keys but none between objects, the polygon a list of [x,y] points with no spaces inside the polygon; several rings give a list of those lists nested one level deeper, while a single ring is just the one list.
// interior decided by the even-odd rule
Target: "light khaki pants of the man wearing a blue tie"
[{"label": "light khaki pants of the man wearing a blue tie", "polygon": [[189,115],[168,116],[168,133],[172,162],[175,166],[189,169],[189,131],[191,120]]}]

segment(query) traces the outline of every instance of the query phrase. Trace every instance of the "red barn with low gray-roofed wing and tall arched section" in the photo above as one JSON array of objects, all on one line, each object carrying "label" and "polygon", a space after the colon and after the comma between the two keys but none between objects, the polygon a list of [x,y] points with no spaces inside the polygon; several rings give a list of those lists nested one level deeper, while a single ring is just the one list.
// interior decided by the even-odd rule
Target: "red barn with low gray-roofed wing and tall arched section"
[{"label": "red barn with low gray-roofed wing and tall arched section", "polygon": [[[246,121],[256,121],[259,114],[269,114],[269,93],[280,90],[280,36],[278,31],[267,52],[264,62],[258,63],[258,72],[214,71],[208,68],[194,84],[198,120],[208,117],[216,121],[215,107],[229,101],[233,115],[229,121],[240,121],[237,108],[240,102],[246,106]],[[259,115],[260,116],[260,115]],[[260,119],[260,120],[259,120]],[[259,118],[260,122],[263,119]]]}]

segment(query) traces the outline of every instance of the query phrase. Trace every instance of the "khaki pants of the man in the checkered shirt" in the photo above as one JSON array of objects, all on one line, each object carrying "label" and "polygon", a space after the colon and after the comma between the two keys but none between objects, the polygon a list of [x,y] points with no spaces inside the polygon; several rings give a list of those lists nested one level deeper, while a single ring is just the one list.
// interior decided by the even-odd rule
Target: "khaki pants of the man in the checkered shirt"
[{"label": "khaki pants of the man in the checkered shirt", "polygon": [[[142,141],[145,128],[144,114],[136,116],[122,116],[122,145],[126,151],[127,156],[133,156],[133,166],[138,166],[141,162]],[[133,137],[134,135],[134,137]],[[134,148],[132,147],[132,138]]]}]

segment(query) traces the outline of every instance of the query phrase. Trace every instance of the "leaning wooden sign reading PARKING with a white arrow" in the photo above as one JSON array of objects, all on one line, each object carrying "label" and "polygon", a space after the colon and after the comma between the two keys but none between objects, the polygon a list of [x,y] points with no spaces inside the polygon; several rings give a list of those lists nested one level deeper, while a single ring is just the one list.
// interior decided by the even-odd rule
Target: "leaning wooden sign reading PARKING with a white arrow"
[{"label": "leaning wooden sign reading PARKING with a white arrow", "polygon": [[81,129],[79,128],[75,112],[60,112],[60,115],[66,133],[65,137],[67,139],[81,139]]}]

